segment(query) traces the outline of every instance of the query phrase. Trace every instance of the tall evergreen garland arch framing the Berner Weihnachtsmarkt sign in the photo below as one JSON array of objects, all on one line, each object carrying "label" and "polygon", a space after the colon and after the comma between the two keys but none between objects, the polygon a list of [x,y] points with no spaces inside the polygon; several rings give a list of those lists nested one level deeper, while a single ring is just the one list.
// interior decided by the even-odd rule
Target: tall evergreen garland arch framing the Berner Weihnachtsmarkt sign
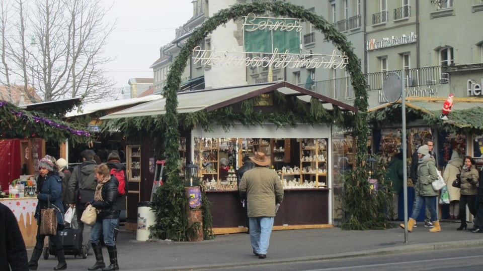
[{"label": "tall evergreen garland arch framing the Berner Weihnachtsmarkt sign", "polygon": [[[167,77],[167,85],[164,88],[163,95],[166,98],[166,114],[164,116],[164,120],[166,123],[166,130],[165,130],[165,153],[164,156],[167,158],[166,169],[167,169],[167,180],[166,184],[168,186],[171,185],[173,190],[170,191],[169,195],[175,195],[179,197],[184,197],[182,193],[182,189],[180,187],[180,177],[179,173],[181,170],[180,164],[180,154],[178,151],[179,147],[179,138],[180,138],[180,131],[179,131],[179,120],[178,120],[178,99],[177,99],[177,92],[181,85],[181,74],[183,73],[186,65],[187,60],[192,52],[192,50],[204,41],[204,38],[208,36],[211,32],[213,32],[218,26],[227,23],[230,20],[239,20],[243,16],[247,16],[250,13],[254,13],[256,15],[265,14],[269,12],[274,16],[280,17],[288,17],[288,18],[299,18],[304,22],[309,22],[313,25],[315,29],[323,32],[327,39],[331,40],[335,46],[339,49],[340,52],[345,53],[349,58],[349,63],[347,65],[347,69],[351,75],[351,83],[353,85],[354,94],[355,94],[355,101],[354,106],[358,108],[358,112],[355,113],[352,123],[353,123],[353,138],[356,140],[357,146],[362,146],[362,148],[357,148],[357,153],[355,156],[356,167],[354,172],[346,178],[346,185],[354,187],[354,189],[346,189],[347,191],[356,191],[356,193],[364,193],[370,194],[370,187],[367,182],[368,174],[365,168],[365,161],[367,160],[367,133],[368,133],[368,116],[367,116],[367,91],[366,91],[366,80],[365,77],[362,75],[361,68],[359,65],[358,57],[353,52],[353,47],[350,42],[347,41],[344,35],[339,33],[335,27],[325,20],[323,17],[316,15],[314,12],[310,10],[306,10],[302,6],[296,6],[290,3],[282,2],[282,1],[274,1],[274,2],[256,2],[251,4],[236,4],[231,6],[228,9],[224,9],[210,17],[206,20],[201,27],[199,27],[192,36],[188,39],[185,46],[181,49],[180,54],[176,57],[172,67],[168,73]],[[318,104],[315,107],[318,106]],[[312,115],[317,115],[316,112],[312,112]],[[343,117],[339,117],[334,119],[335,125],[344,125]],[[362,182],[364,180],[364,182]],[[364,183],[367,183],[364,184]],[[176,187],[176,188],[175,188]],[[353,193],[353,192],[349,192]],[[347,197],[357,197],[357,195],[346,195]],[[365,198],[367,199],[367,197]],[[370,199],[369,199],[370,200]],[[174,202],[173,202],[174,203]],[[362,204],[366,206],[366,204]],[[368,208],[371,208],[371,204],[367,204]],[[159,209],[163,209],[166,211],[166,207],[159,206]],[[359,217],[357,213],[361,213],[361,210],[357,212],[355,210],[351,210],[351,208],[357,208],[357,206],[347,206],[346,212],[350,213],[350,221],[349,223],[359,224],[364,223],[367,217],[372,219],[373,215],[370,210],[367,210],[366,213],[370,213],[369,215],[363,215],[364,217]],[[208,209],[209,210],[209,209]],[[158,215],[162,215],[163,210],[158,210],[156,213]],[[362,211],[364,213],[364,211]],[[164,213],[166,215],[166,213]],[[176,215],[171,212],[171,215]],[[203,217],[205,219],[205,215]],[[211,217],[211,214],[207,214]],[[354,218],[354,215],[357,216]],[[159,216],[158,216],[159,217]],[[186,220],[185,214],[179,214],[178,217],[175,217],[177,221],[179,220]],[[354,222],[355,221],[355,222]],[[203,221],[205,223],[205,220]],[[185,222],[182,224],[187,225]],[[205,227],[206,225],[203,225]],[[166,233],[169,229],[162,229],[166,227],[166,225],[157,225],[158,230],[162,233]],[[356,226],[357,227],[357,226]],[[353,226],[349,226],[349,228],[356,228]],[[188,233],[190,230],[186,228],[185,232]],[[205,237],[206,237],[206,229],[205,229]]]}]

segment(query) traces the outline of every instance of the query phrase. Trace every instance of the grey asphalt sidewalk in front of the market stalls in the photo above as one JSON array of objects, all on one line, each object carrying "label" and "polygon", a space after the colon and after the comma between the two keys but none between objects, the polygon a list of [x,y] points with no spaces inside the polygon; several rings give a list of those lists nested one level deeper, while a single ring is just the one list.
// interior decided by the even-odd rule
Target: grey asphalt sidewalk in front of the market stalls
[{"label": "grey asphalt sidewalk in front of the market stalls", "polygon": [[[374,254],[397,254],[411,251],[483,246],[483,234],[457,231],[459,223],[442,222],[442,231],[428,232],[420,224],[404,242],[404,230],[347,231],[340,228],[273,231],[267,258],[252,254],[249,234],[216,235],[214,240],[200,242],[136,241],[136,233],[121,231],[118,236],[119,266],[123,270],[196,270],[207,267],[257,265],[313,259],[344,258]],[[468,224],[472,227],[473,224]],[[109,262],[103,248],[104,260]],[[31,254],[29,250],[29,254]],[[87,259],[66,256],[68,269],[86,269],[95,262],[90,252]],[[38,270],[51,270],[56,260],[39,261]]]}]

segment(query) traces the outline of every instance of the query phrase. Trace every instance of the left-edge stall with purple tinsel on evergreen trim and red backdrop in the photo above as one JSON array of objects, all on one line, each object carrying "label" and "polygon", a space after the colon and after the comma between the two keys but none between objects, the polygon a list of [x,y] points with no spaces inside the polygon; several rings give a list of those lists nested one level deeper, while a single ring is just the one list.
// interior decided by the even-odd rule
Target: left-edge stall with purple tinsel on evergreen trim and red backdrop
[{"label": "left-edge stall with purple tinsel on evergreen trim and red backdrop", "polygon": [[46,142],[61,146],[67,139],[73,144],[90,140],[89,132],[53,116],[64,114],[75,102],[79,99],[20,108],[0,101],[0,165],[4,173],[0,175],[0,202],[14,212],[27,247],[35,245],[37,163],[46,154]]}]

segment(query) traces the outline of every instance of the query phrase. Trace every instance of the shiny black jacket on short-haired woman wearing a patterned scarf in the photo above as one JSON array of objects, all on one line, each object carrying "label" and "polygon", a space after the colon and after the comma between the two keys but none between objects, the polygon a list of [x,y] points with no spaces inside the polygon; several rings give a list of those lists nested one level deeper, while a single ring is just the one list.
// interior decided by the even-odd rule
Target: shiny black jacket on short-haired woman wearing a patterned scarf
[{"label": "shiny black jacket on short-haired woman wearing a patterned scarf", "polygon": [[97,214],[97,221],[103,219],[112,219],[112,218],[119,218],[119,207],[117,206],[117,186],[119,182],[116,178],[111,176],[111,179],[107,181],[102,186],[102,201],[93,201],[91,202],[92,206],[98,210],[101,210],[99,214]]}]

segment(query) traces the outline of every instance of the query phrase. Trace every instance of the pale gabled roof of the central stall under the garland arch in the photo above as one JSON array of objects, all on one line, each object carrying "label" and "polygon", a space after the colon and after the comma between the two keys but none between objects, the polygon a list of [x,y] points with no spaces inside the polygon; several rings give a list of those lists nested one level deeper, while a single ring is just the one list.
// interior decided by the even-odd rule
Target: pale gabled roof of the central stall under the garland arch
[{"label": "pale gabled roof of the central stall under the garland arch", "polygon": [[[209,112],[273,90],[277,90],[287,96],[296,96],[303,101],[309,101],[311,97],[318,98],[323,103],[339,106],[343,110],[357,112],[357,108],[352,105],[331,99],[285,81],[179,92],[178,112],[189,113],[199,110]],[[101,117],[101,119],[162,115],[166,113],[165,106],[166,99],[158,99],[111,113]]]}]

